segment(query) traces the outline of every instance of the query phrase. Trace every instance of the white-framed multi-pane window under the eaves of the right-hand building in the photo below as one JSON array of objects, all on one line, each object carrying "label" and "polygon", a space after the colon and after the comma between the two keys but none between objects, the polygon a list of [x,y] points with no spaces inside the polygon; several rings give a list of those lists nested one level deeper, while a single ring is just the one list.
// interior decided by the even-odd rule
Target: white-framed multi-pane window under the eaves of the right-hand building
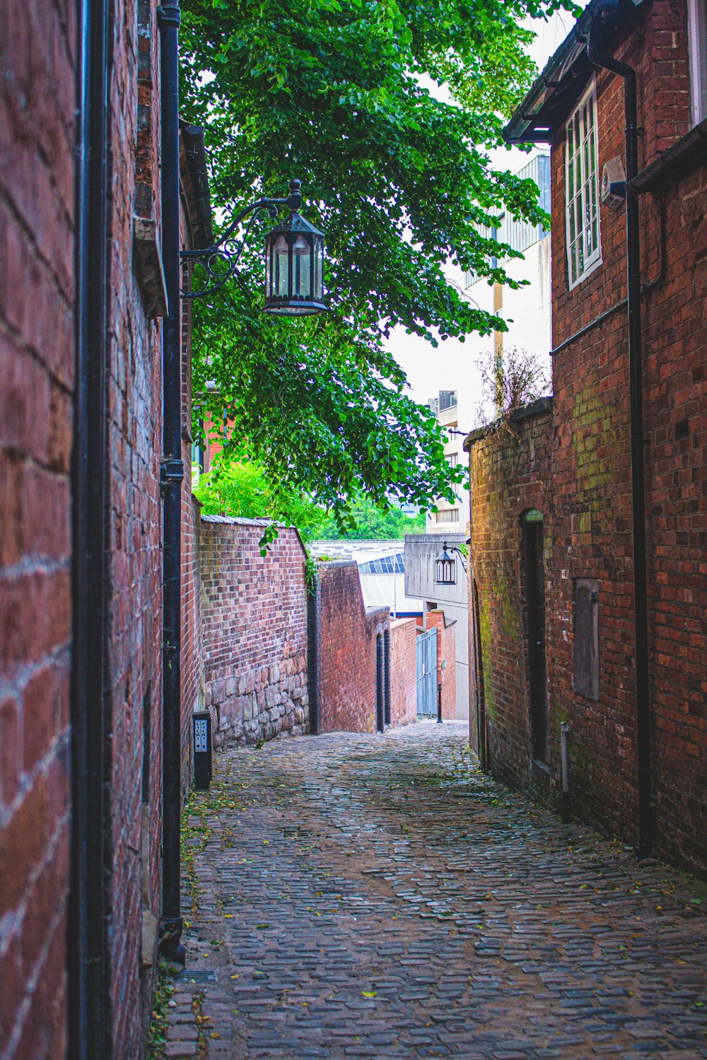
[{"label": "white-framed multi-pane window under the eaves of the right-hand building", "polygon": [[[575,152],[578,136],[580,149]],[[593,78],[565,126],[565,237],[570,290],[601,265],[599,201],[597,86]]]}]

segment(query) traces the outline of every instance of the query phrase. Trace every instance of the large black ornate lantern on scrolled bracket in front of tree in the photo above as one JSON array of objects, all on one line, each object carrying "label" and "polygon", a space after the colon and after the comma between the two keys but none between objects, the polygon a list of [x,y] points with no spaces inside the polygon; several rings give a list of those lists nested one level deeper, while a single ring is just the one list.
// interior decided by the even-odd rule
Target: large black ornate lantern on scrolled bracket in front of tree
[{"label": "large black ornate lantern on scrolled bracket in front of tree", "polygon": [[[218,243],[201,250],[182,250],[182,262],[198,262],[207,281],[196,290],[182,290],[182,298],[210,295],[235,273],[250,229],[264,213],[278,216],[281,206],[289,216],[265,236],[265,303],[263,310],[279,317],[305,317],[322,313],[324,304],[324,233],[301,215],[300,181],[289,181],[286,199],[262,198],[235,216]],[[241,238],[236,230],[245,218],[250,220]]]}]

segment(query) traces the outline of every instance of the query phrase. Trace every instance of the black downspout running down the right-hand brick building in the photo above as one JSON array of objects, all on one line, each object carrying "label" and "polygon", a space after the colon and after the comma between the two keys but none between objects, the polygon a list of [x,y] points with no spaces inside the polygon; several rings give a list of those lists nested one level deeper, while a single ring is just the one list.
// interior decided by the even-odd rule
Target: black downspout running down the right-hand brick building
[{"label": "black downspout running down the right-hand brick building", "polygon": [[599,69],[623,78],[626,152],[626,271],[629,374],[631,387],[631,492],[634,560],[634,631],[636,638],[636,754],[638,759],[638,858],[652,849],[651,714],[648,679],[648,594],[646,584],[646,488],[643,473],[643,379],[640,319],[640,242],[638,196],[632,180],[638,173],[638,106],[636,71],[626,63],[602,55],[597,47],[601,23],[589,26],[587,58]]}]

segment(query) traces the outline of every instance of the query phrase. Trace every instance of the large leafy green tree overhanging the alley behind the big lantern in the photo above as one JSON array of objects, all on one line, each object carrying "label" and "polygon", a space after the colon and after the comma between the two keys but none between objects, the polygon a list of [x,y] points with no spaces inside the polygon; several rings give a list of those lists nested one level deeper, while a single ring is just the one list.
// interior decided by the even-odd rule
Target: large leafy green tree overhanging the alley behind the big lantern
[{"label": "large leafy green tree overhanging the alley behind the big lantern", "polygon": [[[560,5],[184,0],[182,112],[208,117],[214,204],[282,196],[297,176],[328,233],[325,318],[260,314],[258,240],[230,290],[195,302],[194,390],[235,424],[226,458],[255,460],[276,507],[305,493],[344,526],[358,496],[452,499],[461,470],[384,340],[397,324],[432,346],[498,329],[443,266],[505,282],[491,258],[514,251],[479,225],[501,208],[547,224],[534,183],[494,173],[476,145],[499,142],[500,114],[533,73],[520,20]],[[434,98],[425,76],[461,105]]]}]

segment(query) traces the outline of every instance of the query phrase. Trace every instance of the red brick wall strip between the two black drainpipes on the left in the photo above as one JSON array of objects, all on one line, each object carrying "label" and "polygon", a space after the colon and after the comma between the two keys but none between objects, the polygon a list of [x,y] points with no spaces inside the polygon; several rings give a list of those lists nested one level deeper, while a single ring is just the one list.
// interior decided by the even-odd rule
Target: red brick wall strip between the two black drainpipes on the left
[{"label": "red brick wall strip between the two black drainpipes on the left", "polygon": [[[156,7],[141,5],[142,43],[149,32],[152,78],[159,86]],[[147,18],[145,18],[147,16]],[[138,4],[116,0],[110,77],[113,157],[110,216],[111,346],[108,377],[111,714],[109,829],[109,976],[117,1056],[138,1052],[149,1010],[152,978],[141,977],[143,905],[159,916],[161,867],[161,499],[162,364],[160,324],[146,318],[134,271],[137,182],[158,182],[157,142],[141,141],[138,89],[148,104],[145,52],[139,86]],[[143,111],[141,111],[142,113]],[[143,830],[143,708],[151,701],[151,792]],[[147,840],[148,835],[148,840]],[[145,880],[145,877],[147,878]],[[149,954],[149,957],[153,955]]]}]

